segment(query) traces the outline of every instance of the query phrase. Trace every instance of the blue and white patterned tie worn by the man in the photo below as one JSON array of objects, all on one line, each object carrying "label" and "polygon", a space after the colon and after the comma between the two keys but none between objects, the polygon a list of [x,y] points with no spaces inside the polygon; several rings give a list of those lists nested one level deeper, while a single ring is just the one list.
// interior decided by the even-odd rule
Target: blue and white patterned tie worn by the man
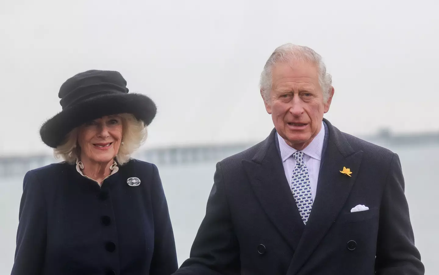
[{"label": "blue and white patterned tie worn by the man", "polygon": [[302,216],[303,223],[306,224],[313,207],[313,197],[311,195],[311,185],[309,184],[308,168],[303,162],[303,152],[296,151],[293,154],[296,166],[293,170],[292,188],[294,199]]}]

